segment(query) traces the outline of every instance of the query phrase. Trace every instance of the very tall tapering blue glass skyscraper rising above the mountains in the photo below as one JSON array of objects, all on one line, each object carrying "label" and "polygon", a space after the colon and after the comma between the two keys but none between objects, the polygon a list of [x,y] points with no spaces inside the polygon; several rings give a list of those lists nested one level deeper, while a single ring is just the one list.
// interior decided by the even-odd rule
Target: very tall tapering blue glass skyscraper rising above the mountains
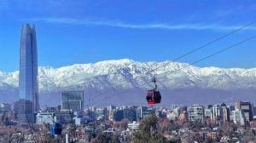
[{"label": "very tall tapering blue glass skyscraper rising above the mountains", "polygon": [[38,49],[34,25],[22,25],[20,37],[19,123],[34,123],[38,112]]}]

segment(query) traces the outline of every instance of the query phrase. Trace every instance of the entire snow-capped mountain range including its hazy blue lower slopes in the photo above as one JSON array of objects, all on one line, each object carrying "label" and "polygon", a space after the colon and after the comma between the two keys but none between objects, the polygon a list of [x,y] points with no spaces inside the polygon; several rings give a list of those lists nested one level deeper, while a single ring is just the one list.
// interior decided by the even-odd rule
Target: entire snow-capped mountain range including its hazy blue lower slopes
[{"label": "entire snow-capped mountain range including its hazy blue lower slopes", "polygon": [[[172,61],[105,60],[61,68],[38,67],[38,74],[41,105],[45,105],[44,102],[49,102],[49,105],[60,104],[63,90],[84,90],[85,97],[90,98],[92,104],[99,101],[102,105],[144,104],[144,92],[153,88],[153,83],[150,83],[153,77],[158,80],[163,99],[166,96],[170,100],[165,100],[166,105],[194,103],[195,96],[205,98],[210,94],[213,98],[226,94],[229,97],[208,102],[239,100],[240,96],[252,100],[251,96],[256,91],[256,68],[200,68]],[[19,72],[0,72],[0,100],[15,101],[18,98],[18,85]],[[193,99],[189,101],[189,97]],[[103,100],[106,98],[108,100]]]}]

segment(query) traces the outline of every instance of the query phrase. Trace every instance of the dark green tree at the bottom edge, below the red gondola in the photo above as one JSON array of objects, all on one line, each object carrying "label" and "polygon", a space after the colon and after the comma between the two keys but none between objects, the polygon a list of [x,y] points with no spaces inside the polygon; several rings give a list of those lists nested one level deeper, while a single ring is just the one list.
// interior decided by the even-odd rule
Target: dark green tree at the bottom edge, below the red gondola
[{"label": "dark green tree at the bottom edge, below the red gondola", "polygon": [[166,143],[166,137],[157,129],[157,117],[155,114],[146,117],[134,134],[135,143]]}]

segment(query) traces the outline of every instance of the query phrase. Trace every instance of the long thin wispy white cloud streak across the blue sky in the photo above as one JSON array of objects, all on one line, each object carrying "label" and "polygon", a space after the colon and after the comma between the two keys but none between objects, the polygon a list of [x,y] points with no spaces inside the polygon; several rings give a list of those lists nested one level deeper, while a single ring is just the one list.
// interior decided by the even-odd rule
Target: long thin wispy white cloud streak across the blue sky
[{"label": "long thin wispy white cloud streak across the blue sky", "polygon": [[[52,24],[70,24],[70,25],[84,25],[84,26],[117,26],[133,29],[166,29],[166,30],[231,30],[238,29],[241,26],[218,26],[205,24],[181,24],[172,25],[166,23],[151,23],[151,24],[130,24],[123,23],[117,20],[78,20],[71,18],[34,18],[32,22],[44,22]],[[255,26],[247,27],[250,30],[256,30]]]}]

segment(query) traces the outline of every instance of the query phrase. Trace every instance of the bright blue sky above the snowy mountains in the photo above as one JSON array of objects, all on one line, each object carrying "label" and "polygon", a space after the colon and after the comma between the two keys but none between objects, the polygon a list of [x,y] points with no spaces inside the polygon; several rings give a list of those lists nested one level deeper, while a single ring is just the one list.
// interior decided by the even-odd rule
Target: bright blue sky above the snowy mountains
[{"label": "bright blue sky above the snowy mountains", "polygon": [[[203,0],[0,0],[0,71],[19,69],[21,24],[36,25],[39,66],[101,60],[173,60],[252,22],[256,2]],[[255,34],[256,24],[180,62]],[[196,66],[256,67],[256,39]]]}]

